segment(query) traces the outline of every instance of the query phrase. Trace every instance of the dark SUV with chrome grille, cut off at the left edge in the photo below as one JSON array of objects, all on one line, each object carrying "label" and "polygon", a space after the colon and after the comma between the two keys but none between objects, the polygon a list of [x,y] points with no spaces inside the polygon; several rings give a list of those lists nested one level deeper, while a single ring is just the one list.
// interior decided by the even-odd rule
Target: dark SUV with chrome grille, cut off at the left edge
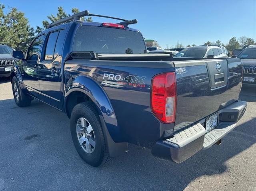
[{"label": "dark SUV with chrome grille, cut off at the left edge", "polygon": [[5,44],[0,44],[0,77],[9,77],[12,65],[16,61],[12,57],[12,49]]}]

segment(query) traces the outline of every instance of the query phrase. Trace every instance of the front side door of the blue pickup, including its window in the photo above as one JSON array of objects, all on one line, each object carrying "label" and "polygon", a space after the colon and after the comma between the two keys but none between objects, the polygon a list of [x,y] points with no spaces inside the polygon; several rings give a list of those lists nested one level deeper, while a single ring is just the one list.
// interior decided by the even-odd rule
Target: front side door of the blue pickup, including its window
[{"label": "front side door of the blue pickup, including its window", "polygon": [[40,49],[44,41],[44,35],[34,39],[26,54],[26,60],[22,63],[22,79],[32,96],[40,97],[40,87],[38,82],[38,61],[40,59]]}]

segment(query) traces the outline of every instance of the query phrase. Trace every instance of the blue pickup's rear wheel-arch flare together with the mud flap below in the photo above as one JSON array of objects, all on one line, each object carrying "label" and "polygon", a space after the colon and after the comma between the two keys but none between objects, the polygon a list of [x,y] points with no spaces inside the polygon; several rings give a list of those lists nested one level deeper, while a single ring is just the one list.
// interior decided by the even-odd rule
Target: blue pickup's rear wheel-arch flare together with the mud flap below
[{"label": "blue pickup's rear wheel-arch flare together with the mud flap below", "polygon": [[102,87],[88,76],[78,75],[70,78],[65,87],[65,111],[68,95],[73,91],[81,91],[94,102],[100,114],[110,156],[117,156],[118,152],[127,150],[127,143],[122,143],[122,133],[117,125],[113,107]]}]

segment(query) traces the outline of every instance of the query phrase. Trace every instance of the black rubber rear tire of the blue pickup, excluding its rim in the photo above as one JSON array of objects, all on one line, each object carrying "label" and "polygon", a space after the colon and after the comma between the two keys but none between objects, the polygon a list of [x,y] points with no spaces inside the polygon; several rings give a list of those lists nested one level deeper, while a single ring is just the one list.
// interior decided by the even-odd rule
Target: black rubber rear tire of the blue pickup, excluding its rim
[{"label": "black rubber rear tire of the blue pickup, excluding its rim", "polygon": [[[87,153],[79,143],[76,124],[80,118],[85,118],[90,125],[95,137],[95,148],[92,153]],[[100,122],[99,114],[90,102],[82,102],[74,106],[70,117],[70,130],[74,146],[80,157],[89,165],[98,167],[104,165],[108,159],[106,143]]]}]

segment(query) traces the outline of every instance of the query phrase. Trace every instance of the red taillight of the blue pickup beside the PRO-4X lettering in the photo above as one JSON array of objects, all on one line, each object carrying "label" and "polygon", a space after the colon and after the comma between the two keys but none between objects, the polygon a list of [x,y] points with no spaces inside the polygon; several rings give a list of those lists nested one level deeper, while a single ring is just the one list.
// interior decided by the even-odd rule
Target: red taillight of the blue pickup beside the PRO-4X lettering
[{"label": "red taillight of the blue pickup beside the PRO-4X lettering", "polygon": [[163,73],[155,76],[151,91],[151,107],[154,115],[164,123],[174,122],[176,113],[175,73]]}]

